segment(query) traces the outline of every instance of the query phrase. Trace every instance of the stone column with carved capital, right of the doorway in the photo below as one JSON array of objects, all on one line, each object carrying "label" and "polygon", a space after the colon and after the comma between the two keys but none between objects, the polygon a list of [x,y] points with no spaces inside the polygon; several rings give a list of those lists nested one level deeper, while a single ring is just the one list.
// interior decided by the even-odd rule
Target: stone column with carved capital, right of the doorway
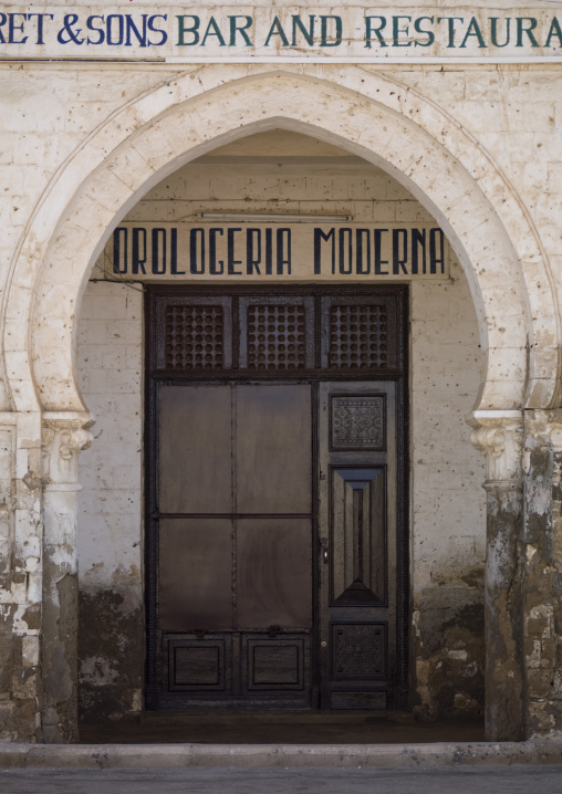
[{"label": "stone column with carved capital, right of the doorway", "polygon": [[469,424],[472,443],[486,455],[486,739],[522,741],[522,411],[475,411]]}]

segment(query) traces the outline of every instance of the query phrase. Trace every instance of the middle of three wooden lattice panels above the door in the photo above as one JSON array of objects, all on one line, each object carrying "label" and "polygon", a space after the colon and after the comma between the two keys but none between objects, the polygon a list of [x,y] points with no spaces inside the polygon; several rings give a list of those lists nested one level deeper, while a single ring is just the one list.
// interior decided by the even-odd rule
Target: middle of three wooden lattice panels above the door
[{"label": "middle of three wooden lattice panels above the door", "polygon": [[248,307],[248,366],[302,369],[305,366],[304,306]]}]

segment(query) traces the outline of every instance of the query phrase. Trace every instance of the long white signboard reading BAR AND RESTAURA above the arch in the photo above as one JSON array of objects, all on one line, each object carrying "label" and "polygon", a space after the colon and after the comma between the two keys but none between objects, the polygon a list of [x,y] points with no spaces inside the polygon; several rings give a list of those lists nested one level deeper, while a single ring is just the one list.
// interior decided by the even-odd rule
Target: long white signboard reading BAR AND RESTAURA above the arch
[{"label": "long white signboard reading BAR AND RESTAURA above the arch", "polygon": [[562,58],[562,9],[0,4],[0,58],[261,61]]}]

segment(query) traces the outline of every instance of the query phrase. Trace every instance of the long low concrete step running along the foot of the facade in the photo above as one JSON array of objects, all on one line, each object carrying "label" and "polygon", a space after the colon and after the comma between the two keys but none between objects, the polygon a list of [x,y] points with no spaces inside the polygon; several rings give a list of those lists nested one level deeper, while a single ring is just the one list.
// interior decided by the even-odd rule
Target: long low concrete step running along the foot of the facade
[{"label": "long low concrete step running along the foot of the facade", "polygon": [[358,767],[556,764],[562,742],[435,744],[3,744],[0,769]]}]

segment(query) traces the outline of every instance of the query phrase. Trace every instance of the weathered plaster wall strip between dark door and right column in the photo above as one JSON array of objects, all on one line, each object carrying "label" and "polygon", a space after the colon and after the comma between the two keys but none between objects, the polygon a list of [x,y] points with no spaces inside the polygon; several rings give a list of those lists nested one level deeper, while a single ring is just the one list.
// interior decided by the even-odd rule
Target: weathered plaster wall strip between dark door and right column
[{"label": "weathered plaster wall strip between dark door and right column", "polygon": [[483,460],[466,425],[478,388],[478,327],[459,265],[412,285],[413,651],[420,717],[483,704]]}]

